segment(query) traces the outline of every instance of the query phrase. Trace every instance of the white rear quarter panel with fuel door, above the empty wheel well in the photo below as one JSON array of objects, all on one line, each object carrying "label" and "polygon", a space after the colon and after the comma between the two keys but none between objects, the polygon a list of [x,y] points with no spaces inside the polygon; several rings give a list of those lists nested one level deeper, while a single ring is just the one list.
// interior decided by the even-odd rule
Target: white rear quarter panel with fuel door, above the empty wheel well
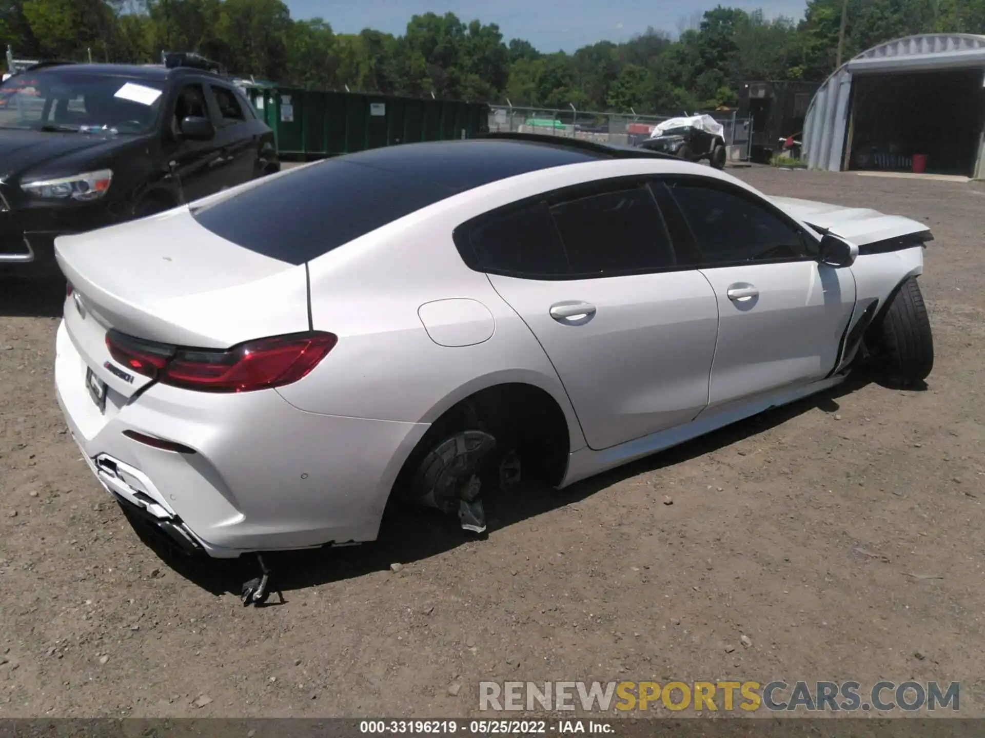
[{"label": "white rear quarter panel with fuel door, above the empty wheel well", "polygon": [[[339,342],[311,374],[278,390],[286,400],[309,412],[430,423],[474,392],[520,382],[558,400],[571,450],[584,446],[540,343],[489,279],[461,261],[450,228],[421,223],[397,241],[359,240],[333,252],[331,264],[310,265],[313,326]],[[492,330],[476,330],[475,311],[463,311],[458,332],[480,342],[439,345],[438,332],[428,336],[421,317],[428,314],[421,306],[436,300],[481,303],[492,314]],[[448,324],[441,333],[457,333],[456,319],[442,318]]]}]

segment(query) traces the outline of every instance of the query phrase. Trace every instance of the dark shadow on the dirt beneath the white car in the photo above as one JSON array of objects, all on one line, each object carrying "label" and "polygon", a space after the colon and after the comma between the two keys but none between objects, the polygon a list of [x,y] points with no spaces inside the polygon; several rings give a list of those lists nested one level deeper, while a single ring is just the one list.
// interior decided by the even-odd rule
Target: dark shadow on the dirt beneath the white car
[{"label": "dark shadow on the dirt beneath the white car", "polygon": [[[838,411],[838,400],[870,384],[872,379],[856,372],[844,384],[820,395],[756,415],[706,436],[640,461],[584,480],[564,490],[553,490],[536,483],[524,483],[508,492],[487,498],[490,530],[535,518],[551,510],[571,505],[617,482],[637,474],[656,471],[711,453],[769,430],[787,420],[818,408]],[[138,534],[177,574],[214,594],[239,595],[243,582],[259,575],[253,557],[235,561],[192,559],[170,550],[156,536],[137,529]],[[485,535],[485,534],[484,534]],[[273,570],[272,590],[290,592],[305,587],[358,578],[385,571],[393,563],[408,564],[452,550],[476,536],[460,530],[451,517],[424,509],[401,509],[384,518],[379,538],[372,543],[345,548],[328,548],[265,555]],[[269,604],[278,604],[272,594]]]}]

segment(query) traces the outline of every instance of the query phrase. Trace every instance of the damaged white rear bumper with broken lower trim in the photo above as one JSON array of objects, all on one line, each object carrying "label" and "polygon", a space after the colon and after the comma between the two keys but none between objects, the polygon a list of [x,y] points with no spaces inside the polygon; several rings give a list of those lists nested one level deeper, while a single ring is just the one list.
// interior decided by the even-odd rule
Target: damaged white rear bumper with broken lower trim
[{"label": "damaged white rear bumper with broken lower trim", "polygon": [[305,412],[273,390],[152,385],[125,398],[109,388],[100,409],[86,372],[63,323],[56,397],[83,460],[124,509],[214,558],[375,539],[394,480],[428,427]]}]

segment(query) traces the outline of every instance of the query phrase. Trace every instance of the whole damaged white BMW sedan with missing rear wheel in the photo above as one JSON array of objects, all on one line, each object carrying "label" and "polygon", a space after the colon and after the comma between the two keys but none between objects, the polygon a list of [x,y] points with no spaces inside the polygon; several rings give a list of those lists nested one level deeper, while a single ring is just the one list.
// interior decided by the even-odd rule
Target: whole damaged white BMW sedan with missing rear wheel
[{"label": "whole damaged white BMW sedan with missing rear wheel", "polygon": [[370,541],[396,497],[482,531],[521,464],[564,487],[862,350],[922,381],[930,238],[639,149],[371,150],[59,238],[57,396],[102,485],[189,553]]}]

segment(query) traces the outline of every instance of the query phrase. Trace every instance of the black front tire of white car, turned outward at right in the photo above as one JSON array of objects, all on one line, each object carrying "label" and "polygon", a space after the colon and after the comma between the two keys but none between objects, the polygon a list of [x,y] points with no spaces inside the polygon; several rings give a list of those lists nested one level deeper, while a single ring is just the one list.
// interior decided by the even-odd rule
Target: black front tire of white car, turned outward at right
[{"label": "black front tire of white car, turned outward at right", "polygon": [[880,371],[889,381],[913,385],[934,368],[934,338],[916,277],[908,277],[889,298],[872,329]]}]

